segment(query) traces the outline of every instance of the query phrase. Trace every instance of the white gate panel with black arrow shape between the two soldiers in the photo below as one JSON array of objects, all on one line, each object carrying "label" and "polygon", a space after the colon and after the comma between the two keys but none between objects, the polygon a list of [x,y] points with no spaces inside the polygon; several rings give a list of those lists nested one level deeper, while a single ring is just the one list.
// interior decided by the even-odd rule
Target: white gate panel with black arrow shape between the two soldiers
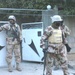
[{"label": "white gate panel with black arrow shape between the two soldiers", "polygon": [[[39,28],[39,25],[43,24],[42,22],[37,23],[24,23],[24,25],[30,25],[31,27],[22,29],[22,60],[26,61],[36,61],[41,62],[41,59],[43,57],[42,49],[40,48],[40,39],[41,36],[38,36],[38,32],[41,32],[41,35],[43,33],[43,27]],[[38,27],[35,25],[38,24]],[[25,42],[24,42],[25,41]],[[29,46],[31,42],[34,42],[34,45],[36,47],[36,50],[38,51],[39,55]]]}]

